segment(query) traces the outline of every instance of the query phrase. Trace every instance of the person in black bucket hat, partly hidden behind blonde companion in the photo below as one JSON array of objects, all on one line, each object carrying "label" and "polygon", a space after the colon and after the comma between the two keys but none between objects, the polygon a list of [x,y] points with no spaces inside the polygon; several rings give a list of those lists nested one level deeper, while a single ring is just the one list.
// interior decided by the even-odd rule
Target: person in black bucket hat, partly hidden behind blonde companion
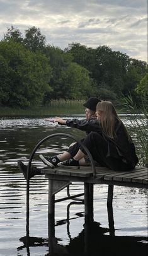
[{"label": "person in black bucket hat, partly hidden behind blonde companion", "polygon": [[[75,122],[77,122],[80,126],[83,126],[84,124],[87,123],[87,120],[96,119],[96,105],[98,102],[100,102],[100,100],[96,97],[89,98],[83,104],[83,106],[86,107],[85,108],[86,119],[83,119],[83,120],[73,119],[73,120],[75,120]],[[54,119],[46,119],[46,120],[54,122]],[[86,131],[86,134],[88,134],[87,131]],[[83,142],[83,140],[84,139],[81,139],[81,142]],[[57,165],[57,163],[59,163],[60,161],[65,161],[72,158],[77,153],[79,148],[80,148],[79,143],[72,143],[69,149],[67,149],[67,151],[65,151],[63,154],[60,154],[59,156],[40,155],[40,158],[42,159],[43,163],[45,163],[45,165],[48,165],[54,168]],[[89,158],[87,156],[85,158],[82,158],[79,164],[90,165]],[[20,172],[22,172],[26,178],[27,166],[24,165],[22,161],[18,161],[18,166],[20,168]],[[42,175],[42,173],[40,172],[40,169],[36,168],[35,166],[31,167],[30,178],[33,177],[34,175]]]}]

